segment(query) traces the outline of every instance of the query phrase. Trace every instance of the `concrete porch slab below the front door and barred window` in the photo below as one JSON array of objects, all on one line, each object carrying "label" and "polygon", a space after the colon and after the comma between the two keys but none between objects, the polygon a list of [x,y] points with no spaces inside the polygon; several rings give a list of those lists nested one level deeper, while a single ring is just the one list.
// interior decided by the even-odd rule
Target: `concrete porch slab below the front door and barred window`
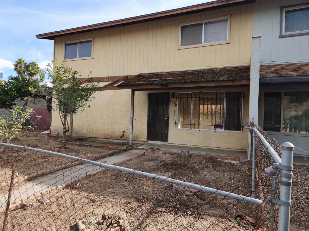
[{"label": "concrete porch slab below the front door and barred window", "polygon": [[200,147],[189,147],[189,146],[179,146],[171,144],[151,144],[142,143],[139,145],[134,145],[134,148],[146,149],[146,148],[160,148],[160,150],[180,152],[181,149],[189,149],[190,153],[198,155],[214,155],[214,156],[229,156],[238,158],[248,158],[247,151],[232,151],[224,149],[215,148],[200,148]]}]

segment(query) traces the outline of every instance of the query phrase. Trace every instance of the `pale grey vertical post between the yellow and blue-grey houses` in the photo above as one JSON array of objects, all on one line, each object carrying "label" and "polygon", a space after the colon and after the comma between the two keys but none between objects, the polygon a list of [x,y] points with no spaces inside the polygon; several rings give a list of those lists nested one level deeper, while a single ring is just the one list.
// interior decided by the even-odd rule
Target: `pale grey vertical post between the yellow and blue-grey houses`
[{"label": "pale grey vertical post between the yellow and blue-grey houses", "polygon": [[253,35],[250,62],[249,118],[258,123],[261,35]]}]

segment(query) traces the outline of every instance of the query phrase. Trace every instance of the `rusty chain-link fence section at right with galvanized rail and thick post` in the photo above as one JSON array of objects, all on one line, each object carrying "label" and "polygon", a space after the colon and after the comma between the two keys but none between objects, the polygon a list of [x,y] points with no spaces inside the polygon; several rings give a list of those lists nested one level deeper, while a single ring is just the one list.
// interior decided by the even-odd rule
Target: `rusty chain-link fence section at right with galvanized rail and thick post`
[{"label": "rusty chain-link fence section at right with galvanized rail and thick post", "polygon": [[[256,194],[270,194],[266,197],[266,200],[270,203],[269,210],[267,210],[270,213],[269,230],[273,231],[278,229],[279,231],[289,231],[294,145],[285,142],[281,145],[281,151],[277,141],[271,141],[266,132],[258,125],[249,123],[245,128],[249,129],[251,136],[252,198],[255,198]],[[261,132],[263,132],[263,134],[261,134]],[[256,150],[257,145],[259,146],[258,152]],[[275,151],[274,148],[276,148],[277,151]],[[270,157],[268,154],[270,154]],[[257,169],[256,167],[257,159],[259,159],[259,161],[264,160],[263,164],[264,167],[266,167],[264,168],[264,176],[263,168]],[[277,179],[278,172],[280,172],[280,180]],[[256,188],[256,180],[261,182],[261,178],[264,178],[266,175],[265,173],[269,176],[268,184],[266,184],[265,187],[265,184],[260,183],[260,188]],[[276,188],[276,181],[279,181],[280,192],[278,188]],[[269,188],[268,192],[265,190],[267,186]],[[279,198],[276,198],[276,191]],[[278,214],[277,211],[275,211],[275,205],[279,205]],[[264,226],[266,225],[264,224]]]}]

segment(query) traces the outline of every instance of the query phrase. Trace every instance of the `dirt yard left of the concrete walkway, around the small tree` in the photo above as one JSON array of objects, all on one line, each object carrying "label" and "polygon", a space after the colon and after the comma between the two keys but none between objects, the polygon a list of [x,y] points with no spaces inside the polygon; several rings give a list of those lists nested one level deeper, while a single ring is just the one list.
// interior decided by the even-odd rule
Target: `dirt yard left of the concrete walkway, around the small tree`
[{"label": "dirt yard left of the concrete walkway, around the small tree", "polygon": [[[59,152],[61,149],[61,144],[48,142],[45,140],[45,137],[42,136],[22,136],[13,140],[11,144],[40,148],[53,152]],[[61,150],[61,153],[86,159],[100,156],[108,152],[108,150],[104,148],[80,147],[74,145],[67,145],[67,148],[66,150]],[[0,153],[0,159],[6,159],[0,165],[0,183],[5,182],[7,184],[11,179],[13,164],[16,165],[15,177],[21,179],[26,175],[29,176],[40,171],[49,171],[63,164],[70,164],[73,162],[73,160],[50,156],[41,152],[22,151],[18,149]]]}]

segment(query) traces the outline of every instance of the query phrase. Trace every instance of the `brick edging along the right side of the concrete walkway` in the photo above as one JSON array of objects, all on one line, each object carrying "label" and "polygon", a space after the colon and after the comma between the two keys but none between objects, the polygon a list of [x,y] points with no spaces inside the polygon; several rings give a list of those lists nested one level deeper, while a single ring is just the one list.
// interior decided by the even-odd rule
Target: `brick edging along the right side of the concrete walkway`
[{"label": "brick edging along the right side of the concrete walkway", "polygon": [[[126,162],[126,161],[133,160],[133,159],[135,159],[135,158],[138,158],[138,157],[144,156],[144,155],[145,155],[145,152],[141,152],[140,154],[137,154],[137,155],[135,155],[135,156],[132,156],[132,157],[130,157],[130,158],[128,158],[128,159],[121,160],[121,161],[115,163],[114,165],[123,164],[123,163]],[[106,171],[106,170],[107,170],[107,169],[104,168],[104,169],[101,169],[101,170],[98,171],[98,172],[91,173],[91,174],[86,175],[86,176],[84,176],[84,177],[82,177],[82,178],[79,178],[79,179],[77,179],[77,180],[73,180],[73,181],[70,181],[70,182],[68,182],[68,183],[60,184],[60,185],[58,185],[57,187],[48,188],[48,189],[43,189],[43,190],[40,191],[40,193],[35,193],[35,194],[33,194],[32,196],[27,197],[27,198],[24,199],[23,201],[15,201],[14,203],[10,204],[10,210],[15,209],[17,206],[21,205],[23,202],[29,202],[29,201],[33,201],[33,200],[36,201],[36,197],[44,196],[45,194],[47,194],[47,193],[49,193],[49,192],[55,190],[56,188],[58,188],[58,189],[60,189],[60,188],[65,188],[66,186],[70,186],[70,185],[72,185],[72,184],[75,184],[75,183],[78,182],[79,180],[88,178],[88,177],[90,177],[90,176],[93,176],[93,175],[95,175],[95,174],[97,174],[97,173],[100,173],[100,172],[103,172],[103,171]],[[5,212],[5,210],[6,210],[6,206],[0,207],[0,213]]]}]

